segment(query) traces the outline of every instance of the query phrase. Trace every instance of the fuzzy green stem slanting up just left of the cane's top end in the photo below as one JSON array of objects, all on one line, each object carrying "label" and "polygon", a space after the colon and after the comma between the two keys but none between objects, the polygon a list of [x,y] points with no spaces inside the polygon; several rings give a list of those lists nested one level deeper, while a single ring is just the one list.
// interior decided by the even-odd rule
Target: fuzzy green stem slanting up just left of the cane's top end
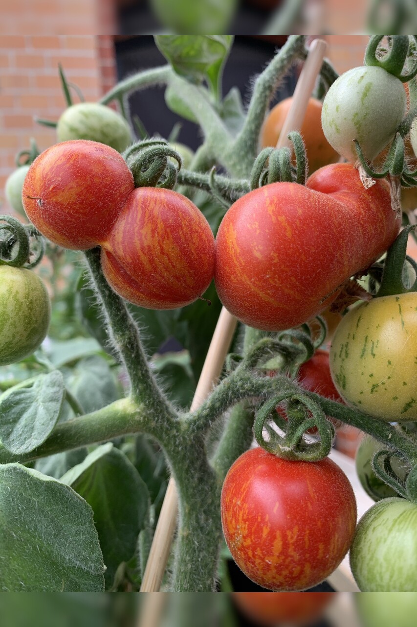
[{"label": "fuzzy green stem slanting up just left of the cane's top end", "polygon": [[258,152],[259,134],[277,83],[304,51],[304,35],[289,36],[286,44],[258,76],[245,123],[235,142],[228,146],[225,164],[234,176],[249,176]]}]

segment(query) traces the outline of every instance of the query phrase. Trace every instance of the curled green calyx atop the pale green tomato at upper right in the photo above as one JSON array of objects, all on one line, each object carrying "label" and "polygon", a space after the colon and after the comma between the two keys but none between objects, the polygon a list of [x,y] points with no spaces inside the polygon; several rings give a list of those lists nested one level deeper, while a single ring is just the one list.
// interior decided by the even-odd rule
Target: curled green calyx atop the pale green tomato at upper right
[{"label": "curled green calyx atop the pale green tomato at upper right", "polygon": [[388,50],[380,46],[383,38],[384,35],[374,35],[369,39],[365,53],[365,65],[378,66],[399,78],[403,83],[408,82],[417,75],[415,36],[389,36]]}]

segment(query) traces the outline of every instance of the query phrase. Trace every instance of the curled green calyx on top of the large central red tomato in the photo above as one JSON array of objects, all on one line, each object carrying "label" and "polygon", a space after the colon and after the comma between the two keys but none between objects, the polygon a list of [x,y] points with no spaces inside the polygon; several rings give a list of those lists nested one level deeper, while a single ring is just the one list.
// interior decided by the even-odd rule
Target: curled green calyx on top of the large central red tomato
[{"label": "curled green calyx on top of the large central red tomato", "polygon": [[293,131],[288,135],[291,140],[296,166],[292,165],[292,150],[288,147],[264,148],[252,167],[250,189],[257,189],[275,182],[296,182],[304,185],[307,179],[306,148],[301,135]]}]

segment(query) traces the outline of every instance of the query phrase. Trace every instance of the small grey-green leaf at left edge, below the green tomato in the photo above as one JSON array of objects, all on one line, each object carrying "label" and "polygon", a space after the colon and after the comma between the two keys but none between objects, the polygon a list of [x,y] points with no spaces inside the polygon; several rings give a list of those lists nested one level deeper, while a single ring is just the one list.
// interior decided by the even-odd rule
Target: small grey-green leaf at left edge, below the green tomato
[{"label": "small grey-green leaf at left edge, below the green tomato", "polygon": [[61,372],[39,374],[0,396],[0,439],[14,455],[29,453],[51,433],[64,401]]}]

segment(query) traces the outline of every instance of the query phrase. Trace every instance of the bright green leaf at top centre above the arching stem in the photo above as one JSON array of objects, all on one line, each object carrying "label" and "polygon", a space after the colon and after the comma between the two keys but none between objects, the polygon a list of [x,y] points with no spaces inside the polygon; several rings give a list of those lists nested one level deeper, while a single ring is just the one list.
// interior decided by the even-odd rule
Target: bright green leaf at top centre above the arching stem
[{"label": "bright green leaf at top centre above the arching stem", "polygon": [[192,83],[207,80],[215,95],[232,42],[232,35],[155,35],[155,43],[177,74]]}]

